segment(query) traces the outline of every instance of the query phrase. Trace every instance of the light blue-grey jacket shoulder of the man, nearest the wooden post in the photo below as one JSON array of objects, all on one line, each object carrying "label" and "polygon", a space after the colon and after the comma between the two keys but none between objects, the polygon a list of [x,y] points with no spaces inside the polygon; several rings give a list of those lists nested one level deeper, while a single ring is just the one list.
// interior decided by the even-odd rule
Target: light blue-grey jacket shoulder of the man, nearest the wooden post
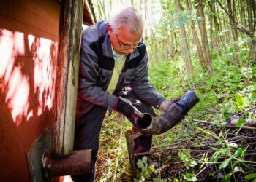
[{"label": "light blue-grey jacket shoulder of the man, nearest the wooden post", "polygon": [[89,26],[82,32],[82,39],[89,44],[98,41],[102,36],[108,33],[108,21],[100,21],[94,25]]}]

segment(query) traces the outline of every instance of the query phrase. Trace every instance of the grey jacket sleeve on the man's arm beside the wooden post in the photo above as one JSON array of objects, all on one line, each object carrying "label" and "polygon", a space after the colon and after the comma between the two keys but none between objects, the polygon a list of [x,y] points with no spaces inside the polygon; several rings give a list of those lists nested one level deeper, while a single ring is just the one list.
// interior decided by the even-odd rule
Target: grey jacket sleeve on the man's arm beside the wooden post
[{"label": "grey jacket sleeve on the man's arm beside the wooden post", "polygon": [[83,100],[108,108],[111,111],[116,105],[116,96],[98,87],[98,78],[98,58],[86,41],[86,33],[83,33],[80,50],[78,95]]}]

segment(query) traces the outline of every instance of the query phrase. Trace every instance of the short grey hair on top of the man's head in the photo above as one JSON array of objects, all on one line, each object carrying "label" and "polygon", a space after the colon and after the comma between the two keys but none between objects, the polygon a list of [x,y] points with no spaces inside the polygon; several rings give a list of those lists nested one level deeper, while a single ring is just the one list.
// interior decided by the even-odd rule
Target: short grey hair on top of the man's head
[{"label": "short grey hair on top of the man's head", "polygon": [[115,32],[118,28],[127,27],[133,35],[143,32],[144,19],[136,7],[125,7],[110,19],[110,27]]}]

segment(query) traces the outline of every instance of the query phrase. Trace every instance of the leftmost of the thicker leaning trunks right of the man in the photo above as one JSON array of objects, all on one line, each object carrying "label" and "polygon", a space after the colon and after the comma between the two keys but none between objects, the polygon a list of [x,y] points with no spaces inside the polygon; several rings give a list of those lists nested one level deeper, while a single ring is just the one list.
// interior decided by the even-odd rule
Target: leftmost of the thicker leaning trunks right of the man
[{"label": "leftmost of the thicker leaning trunks right of the man", "polygon": [[[175,0],[175,7],[176,7],[176,12],[181,18],[181,4],[180,0]],[[180,33],[181,33],[181,43],[183,46],[183,51],[186,59],[186,66],[187,66],[187,73],[192,74],[192,62],[190,59],[190,50],[189,50],[189,44],[187,44],[187,36],[186,36],[186,30],[184,25],[179,25],[180,28]]]}]

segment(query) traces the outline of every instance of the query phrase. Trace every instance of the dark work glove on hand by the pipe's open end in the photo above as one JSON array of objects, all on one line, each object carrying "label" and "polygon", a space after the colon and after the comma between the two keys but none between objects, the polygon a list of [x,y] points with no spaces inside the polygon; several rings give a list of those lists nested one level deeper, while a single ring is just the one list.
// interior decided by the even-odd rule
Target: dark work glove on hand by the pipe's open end
[{"label": "dark work glove on hand by the pipe's open end", "polygon": [[135,114],[135,108],[132,102],[127,98],[118,97],[116,101],[116,111],[120,112],[129,119],[134,126],[136,126],[137,114]]}]

